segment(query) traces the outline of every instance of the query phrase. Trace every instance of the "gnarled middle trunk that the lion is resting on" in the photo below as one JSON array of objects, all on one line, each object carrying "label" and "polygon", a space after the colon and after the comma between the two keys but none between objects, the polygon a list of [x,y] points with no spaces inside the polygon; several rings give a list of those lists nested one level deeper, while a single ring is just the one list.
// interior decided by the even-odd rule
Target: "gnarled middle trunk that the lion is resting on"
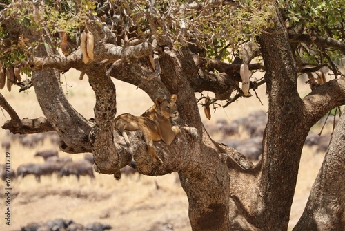
[{"label": "gnarled middle trunk that the lion is resting on", "polygon": [[[204,130],[194,91],[188,82],[190,76],[197,75],[197,67],[187,50],[164,53],[161,55],[159,63],[162,70],[161,77],[143,81],[140,87],[152,99],[159,96],[157,92],[166,96],[177,93],[177,108],[180,118],[177,123],[184,129],[170,145],[170,154],[167,156],[163,151],[167,148],[164,147],[166,145],[159,145],[159,142],[155,142],[157,154],[164,155],[161,158],[162,166],[149,170],[150,165],[145,164],[139,158],[137,160],[138,170],[144,174],[153,172],[157,175],[166,174],[167,170],[178,171],[181,185],[188,196],[192,229],[229,230],[229,176],[226,157],[219,154],[217,146],[213,144]],[[128,72],[121,76],[119,71],[115,72],[120,80],[122,77],[128,76]],[[133,73],[133,75],[138,74]],[[133,80],[129,81],[132,83]],[[186,131],[189,136],[186,136]],[[210,171],[210,169],[213,170]]]}]

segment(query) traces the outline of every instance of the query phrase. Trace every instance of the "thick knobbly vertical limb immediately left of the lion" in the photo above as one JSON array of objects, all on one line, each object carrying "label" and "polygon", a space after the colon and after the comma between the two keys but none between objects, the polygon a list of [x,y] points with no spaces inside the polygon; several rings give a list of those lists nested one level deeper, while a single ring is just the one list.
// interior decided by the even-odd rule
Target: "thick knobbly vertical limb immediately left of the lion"
[{"label": "thick knobbly vertical limb immediately left of the lion", "polygon": [[90,133],[95,170],[121,178],[120,169],[130,162],[130,156],[120,155],[115,147],[113,120],[116,115],[116,91],[104,66],[92,66],[88,80],[95,91],[95,126]]}]

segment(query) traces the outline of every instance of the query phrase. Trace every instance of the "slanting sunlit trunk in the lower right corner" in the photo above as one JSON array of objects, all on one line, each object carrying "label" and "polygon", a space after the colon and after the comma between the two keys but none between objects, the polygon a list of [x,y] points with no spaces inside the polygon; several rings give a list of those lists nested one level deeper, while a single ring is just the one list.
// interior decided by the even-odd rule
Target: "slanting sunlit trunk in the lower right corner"
[{"label": "slanting sunlit trunk in the lower right corner", "polygon": [[342,115],[301,219],[293,230],[345,228],[345,116]]}]

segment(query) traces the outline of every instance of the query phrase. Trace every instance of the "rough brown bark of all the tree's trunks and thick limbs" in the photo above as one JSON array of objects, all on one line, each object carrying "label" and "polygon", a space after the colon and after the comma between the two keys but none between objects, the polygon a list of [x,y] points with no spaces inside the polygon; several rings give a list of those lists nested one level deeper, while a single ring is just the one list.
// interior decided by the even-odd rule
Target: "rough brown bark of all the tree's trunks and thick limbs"
[{"label": "rough brown bark of all the tree's trunks and thick limbs", "polygon": [[[112,127],[117,103],[121,102],[116,102],[111,77],[139,86],[152,100],[177,94],[180,118],[175,123],[181,127],[181,133],[170,146],[155,142],[157,154],[163,160],[161,165],[155,165],[148,155],[141,132],[129,133],[138,172],[150,176],[179,172],[181,185],[188,196],[193,230],[287,230],[304,140],[319,118],[345,104],[345,79],[322,84],[301,99],[297,93],[293,53],[278,10],[273,22],[275,28],[259,37],[266,69],[264,80],[269,111],[262,159],[254,168],[250,168],[250,163],[235,149],[219,145],[208,136],[194,95],[197,91],[207,90],[226,98],[238,88],[237,81],[228,73],[207,73],[201,68],[201,58],[190,54],[188,49],[161,53],[160,76],[150,81],[147,78],[151,70],[148,55],[155,49],[156,41],[121,48],[103,40],[95,44],[97,55],[88,64],[83,64],[81,51],[76,50],[68,57],[42,56],[23,65],[35,70],[32,83],[37,100],[51,127],[59,133],[61,148],[70,153],[92,151],[97,172],[114,174],[115,178],[121,177],[119,170],[130,163],[131,154],[124,138]],[[95,41],[106,37],[106,30],[99,25],[88,25]],[[46,55],[43,46],[37,55]],[[72,67],[88,75],[95,91],[95,123],[79,115],[63,95],[57,69],[65,71]],[[239,68],[233,67],[233,71]],[[2,100],[0,103],[3,105]],[[342,123],[340,128],[344,128]],[[20,126],[14,124],[13,131]],[[333,143],[344,140],[344,129],[336,132],[338,136],[333,138]],[[339,146],[342,156],[343,146]],[[344,191],[341,181],[344,157],[339,156],[334,145],[331,147],[297,230],[308,230],[315,225],[327,228],[319,226],[321,223],[313,223],[315,220],[311,216],[314,215],[329,219],[332,224],[344,224],[344,195],[341,195],[341,190]],[[337,158],[342,161],[337,162]],[[330,181],[330,177],[334,181]],[[328,192],[330,187],[332,190]],[[325,202],[329,204],[325,206]],[[321,214],[315,212],[318,208],[324,209],[320,210]],[[330,208],[337,212],[339,220],[335,216],[326,216]]]}]

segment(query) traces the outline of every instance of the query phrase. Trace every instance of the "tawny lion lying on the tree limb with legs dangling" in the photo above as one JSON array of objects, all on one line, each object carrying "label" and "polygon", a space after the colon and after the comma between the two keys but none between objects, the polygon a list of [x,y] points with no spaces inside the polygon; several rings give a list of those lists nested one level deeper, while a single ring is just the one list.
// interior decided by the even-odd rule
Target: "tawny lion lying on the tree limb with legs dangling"
[{"label": "tawny lion lying on the tree limb with legs dangling", "polygon": [[[176,107],[177,95],[171,95],[170,99],[156,98],[155,104],[140,116],[124,113],[115,118],[114,127],[124,137],[126,144],[130,147],[126,131],[140,130],[148,147],[148,153],[152,160],[161,164],[163,161],[157,155],[153,141],[163,140],[170,145],[180,129],[172,126],[170,119],[176,120],[179,116]],[[132,167],[135,168],[134,154],[132,153]]]}]

